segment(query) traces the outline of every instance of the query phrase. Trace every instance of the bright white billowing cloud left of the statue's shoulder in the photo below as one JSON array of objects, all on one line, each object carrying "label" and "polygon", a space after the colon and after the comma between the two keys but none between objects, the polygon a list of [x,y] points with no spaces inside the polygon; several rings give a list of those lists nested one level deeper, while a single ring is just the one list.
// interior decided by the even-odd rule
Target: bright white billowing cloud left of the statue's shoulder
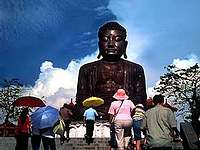
[{"label": "bright white billowing cloud left of the statue's shoulder", "polygon": [[66,69],[54,68],[53,63],[45,61],[40,67],[40,75],[29,94],[40,97],[47,105],[60,107],[75,98],[78,71],[81,65],[94,61],[97,51],[80,60],[72,60]]}]

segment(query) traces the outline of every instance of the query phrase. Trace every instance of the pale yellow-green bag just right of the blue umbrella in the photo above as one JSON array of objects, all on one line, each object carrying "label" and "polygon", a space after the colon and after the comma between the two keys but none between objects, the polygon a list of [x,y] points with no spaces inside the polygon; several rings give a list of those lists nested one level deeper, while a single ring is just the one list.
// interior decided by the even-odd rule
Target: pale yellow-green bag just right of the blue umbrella
[{"label": "pale yellow-green bag just right of the blue umbrella", "polygon": [[63,119],[59,119],[53,126],[53,132],[58,135],[63,135],[65,132],[65,122]]}]

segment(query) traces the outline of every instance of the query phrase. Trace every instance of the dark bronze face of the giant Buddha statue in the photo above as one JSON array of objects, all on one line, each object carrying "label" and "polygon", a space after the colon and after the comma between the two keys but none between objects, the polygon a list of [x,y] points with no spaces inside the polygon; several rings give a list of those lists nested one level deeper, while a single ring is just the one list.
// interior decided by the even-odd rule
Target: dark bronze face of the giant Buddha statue
[{"label": "dark bronze face of the giant Buddha statue", "polygon": [[118,60],[126,52],[127,41],[119,30],[105,30],[99,38],[99,50],[105,60]]}]

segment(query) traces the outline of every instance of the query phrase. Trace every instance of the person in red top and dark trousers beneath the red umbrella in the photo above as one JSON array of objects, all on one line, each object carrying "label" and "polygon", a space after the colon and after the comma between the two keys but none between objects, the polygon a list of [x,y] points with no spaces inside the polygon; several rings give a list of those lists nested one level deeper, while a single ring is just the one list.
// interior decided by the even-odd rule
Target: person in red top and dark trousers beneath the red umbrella
[{"label": "person in red top and dark trousers beneath the red umbrella", "polygon": [[28,115],[28,108],[24,108],[18,118],[18,123],[15,128],[15,150],[28,150],[30,127],[31,123]]}]

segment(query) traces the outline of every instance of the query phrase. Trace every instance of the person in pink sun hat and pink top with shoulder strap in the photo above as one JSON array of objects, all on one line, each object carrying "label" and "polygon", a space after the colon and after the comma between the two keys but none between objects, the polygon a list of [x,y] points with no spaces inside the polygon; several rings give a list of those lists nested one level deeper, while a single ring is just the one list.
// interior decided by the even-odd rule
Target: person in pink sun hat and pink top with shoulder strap
[{"label": "person in pink sun hat and pink top with shoulder strap", "polygon": [[128,141],[131,138],[132,127],[132,111],[135,105],[131,100],[128,100],[128,95],[124,89],[118,89],[113,95],[116,99],[110,105],[108,114],[110,114],[110,122],[113,120],[115,127],[115,137],[119,150],[124,150],[128,146]]}]

